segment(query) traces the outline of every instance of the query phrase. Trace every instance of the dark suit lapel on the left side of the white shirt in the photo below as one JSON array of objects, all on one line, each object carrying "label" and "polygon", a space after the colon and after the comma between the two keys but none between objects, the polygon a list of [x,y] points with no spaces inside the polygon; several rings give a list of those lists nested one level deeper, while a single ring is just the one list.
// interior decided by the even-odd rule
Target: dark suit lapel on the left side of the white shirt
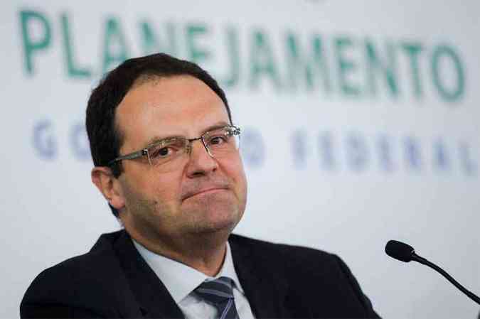
[{"label": "dark suit lapel on the left side of the white shirt", "polygon": [[145,318],[183,318],[169,291],[140,256],[127,232],[114,244],[115,252]]}]

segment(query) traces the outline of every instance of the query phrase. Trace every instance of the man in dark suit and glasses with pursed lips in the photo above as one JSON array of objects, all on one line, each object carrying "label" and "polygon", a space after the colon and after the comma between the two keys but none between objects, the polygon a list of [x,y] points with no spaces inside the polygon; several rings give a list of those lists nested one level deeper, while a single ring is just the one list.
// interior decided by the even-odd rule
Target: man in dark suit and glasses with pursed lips
[{"label": "man in dark suit and glasses with pursed lips", "polygon": [[92,181],[124,229],[43,271],[23,318],[378,318],[346,264],[231,234],[247,181],[223,90],[198,65],[125,61],[92,92]]}]

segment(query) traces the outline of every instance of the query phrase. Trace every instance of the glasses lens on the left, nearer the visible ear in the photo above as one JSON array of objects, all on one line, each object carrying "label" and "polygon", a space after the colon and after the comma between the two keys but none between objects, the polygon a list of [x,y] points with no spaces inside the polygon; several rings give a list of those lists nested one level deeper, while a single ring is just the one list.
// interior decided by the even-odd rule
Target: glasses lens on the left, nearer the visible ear
[{"label": "glasses lens on the left, nearer the visible ear", "polygon": [[187,140],[181,137],[174,137],[160,141],[159,144],[148,148],[148,156],[151,166],[168,166],[175,162],[186,152]]}]

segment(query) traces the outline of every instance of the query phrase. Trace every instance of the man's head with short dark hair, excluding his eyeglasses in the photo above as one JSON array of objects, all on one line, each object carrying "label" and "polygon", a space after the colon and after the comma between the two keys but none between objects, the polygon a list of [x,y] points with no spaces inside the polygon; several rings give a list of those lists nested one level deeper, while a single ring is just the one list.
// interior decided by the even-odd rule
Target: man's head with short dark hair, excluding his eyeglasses
[{"label": "man's head with short dark hair, excluding his eyeglasses", "polygon": [[201,141],[192,141],[168,171],[151,166],[147,156],[108,166],[152,142],[193,139],[231,123],[223,90],[198,65],[165,54],[127,60],[88,102],[92,180],[131,234],[166,241],[230,232],[245,210],[247,192],[238,151],[213,158]]}]

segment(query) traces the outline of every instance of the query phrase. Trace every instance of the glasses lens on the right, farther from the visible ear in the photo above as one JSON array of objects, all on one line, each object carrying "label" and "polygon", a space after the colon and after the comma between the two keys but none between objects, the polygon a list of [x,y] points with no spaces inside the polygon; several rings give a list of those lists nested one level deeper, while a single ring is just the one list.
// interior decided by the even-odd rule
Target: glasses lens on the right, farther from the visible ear
[{"label": "glasses lens on the right, farther from the visible ear", "polygon": [[222,156],[237,151],[240,146],[240,129],[225,127],[207,132],[203,136],[213,156]]}]

